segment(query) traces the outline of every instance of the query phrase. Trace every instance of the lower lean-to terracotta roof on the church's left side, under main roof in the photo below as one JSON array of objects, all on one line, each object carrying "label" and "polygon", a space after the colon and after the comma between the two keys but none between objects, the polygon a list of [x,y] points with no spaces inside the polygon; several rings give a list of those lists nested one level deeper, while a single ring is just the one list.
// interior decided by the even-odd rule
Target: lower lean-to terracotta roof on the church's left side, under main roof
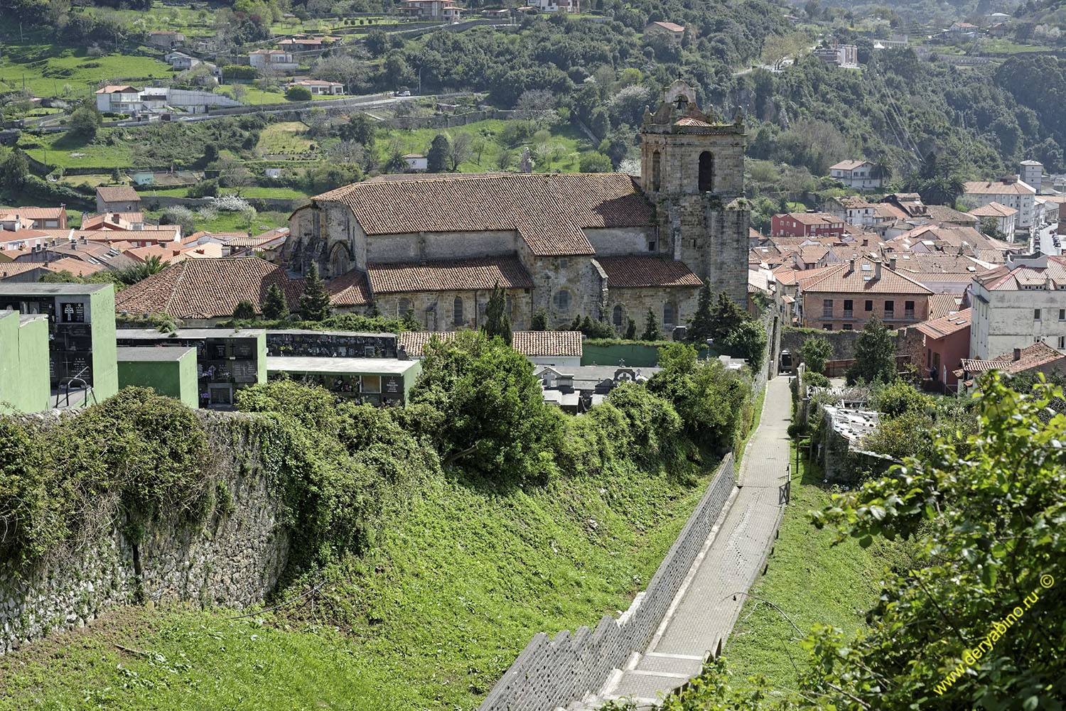
[{"label": "lower lean-to terracotta roof on the church's left side, under main roof", "polygon": [[485,290],[497,282],[507,289],[533,288],[533,279],[517,257],[368,264],[367,275],[371,291],[379,294]]}]

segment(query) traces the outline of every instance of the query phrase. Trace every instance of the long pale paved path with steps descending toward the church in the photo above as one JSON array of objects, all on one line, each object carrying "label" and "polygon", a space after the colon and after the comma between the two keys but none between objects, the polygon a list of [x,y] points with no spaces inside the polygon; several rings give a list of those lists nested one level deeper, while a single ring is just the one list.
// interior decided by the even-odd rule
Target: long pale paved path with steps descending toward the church
[{"label": "long pale paved path with steps descending toward the church", "polygon": [[747,592],[755,582],[777,530],[791,414],[788,378],[770,381],[732,505],[708,537],[647,649],[615,673],[598,695],[600,700],[658,700],[698,674],[720,640],[725,647],[744,604],[744,596],[733,594]]}]

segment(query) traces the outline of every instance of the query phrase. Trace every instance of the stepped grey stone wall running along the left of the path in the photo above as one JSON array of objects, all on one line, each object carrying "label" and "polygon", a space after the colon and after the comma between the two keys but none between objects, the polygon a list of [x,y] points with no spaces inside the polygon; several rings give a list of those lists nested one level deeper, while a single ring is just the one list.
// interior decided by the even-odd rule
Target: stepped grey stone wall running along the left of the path
[{"label": "stepped grey stone wall running along the left of the path", "polygon": [[535,634],[478,710],[546,711],[566,706],[596,692],[612,669],[620,667],[630,653],[643,650],[722,513],[734,481],[730,454],[647,589],[629,610],[618,619],[604,615],[595,630],[580,627],[572,634],[563,630],[553,639],[544,632]]}]

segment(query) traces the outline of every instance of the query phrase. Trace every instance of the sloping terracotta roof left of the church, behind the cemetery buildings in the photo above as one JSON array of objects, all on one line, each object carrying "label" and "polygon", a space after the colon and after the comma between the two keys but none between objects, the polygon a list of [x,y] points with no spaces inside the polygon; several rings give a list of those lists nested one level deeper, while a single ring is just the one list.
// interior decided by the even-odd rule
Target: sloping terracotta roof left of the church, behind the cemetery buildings
[{"label": "sloping terracotta roof left of the church, behind the cemetery buildings", "polygon": [[295,310],[303,281],[290,279],[276,264],[258,257],[187,259],[124,289],[115,310],[178,319],[228,317],[241,300],[258,307],[272,285],[281,288]]}]

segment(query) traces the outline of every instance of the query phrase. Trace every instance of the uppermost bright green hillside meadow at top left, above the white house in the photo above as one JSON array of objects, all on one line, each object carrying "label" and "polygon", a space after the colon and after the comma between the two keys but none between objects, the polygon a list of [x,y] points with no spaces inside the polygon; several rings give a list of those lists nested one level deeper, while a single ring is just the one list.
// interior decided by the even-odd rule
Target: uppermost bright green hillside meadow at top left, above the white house
[{"label": "uppermost bright green hillside meadow at top left, above the white house", "polygon": [[[0,91],[26,87],[35,96],[83,97],[97,83],[114,80],[162,79],[173,72],[168,64],[149,56],[111,54],[88,56],[84,48],[62,45],[4,45],[0,64]],[[96,65],[96,66],[94,66]]]}]

